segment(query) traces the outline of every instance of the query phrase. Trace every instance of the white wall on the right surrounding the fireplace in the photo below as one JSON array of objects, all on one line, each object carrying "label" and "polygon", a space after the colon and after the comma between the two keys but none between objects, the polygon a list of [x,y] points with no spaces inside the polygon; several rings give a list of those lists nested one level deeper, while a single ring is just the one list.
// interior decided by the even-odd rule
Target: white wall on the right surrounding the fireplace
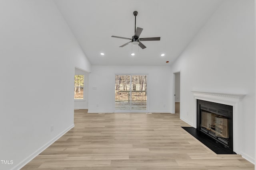
[{"label": "white wall on the right surrounding the fireplace", "polygon": [[181,70],[180,117],[192,125],[190,90],[246,94],[240,113],[241,150],[254,162],[254,0],[225,0],[172,64]]}]

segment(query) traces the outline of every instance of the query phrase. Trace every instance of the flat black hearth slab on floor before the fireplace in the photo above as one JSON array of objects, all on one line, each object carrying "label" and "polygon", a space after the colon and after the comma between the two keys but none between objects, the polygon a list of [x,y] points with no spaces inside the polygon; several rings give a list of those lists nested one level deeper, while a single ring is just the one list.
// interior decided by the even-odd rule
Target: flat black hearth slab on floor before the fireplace
[{"label": "flat black hearth slab on floor before the fireplace", "polygon": [[188,133],[190,133],[190,135],[195,137],[198,141],[203,143],[206,147],[214,151],[216,154],[236,154],[236,152],[233,152],[230,149],[228,149],[228,147],[225,147],[221,143],[218,143],[212,140],[211,137],[195,129],[194,127],[182,127],[182,128]]}]

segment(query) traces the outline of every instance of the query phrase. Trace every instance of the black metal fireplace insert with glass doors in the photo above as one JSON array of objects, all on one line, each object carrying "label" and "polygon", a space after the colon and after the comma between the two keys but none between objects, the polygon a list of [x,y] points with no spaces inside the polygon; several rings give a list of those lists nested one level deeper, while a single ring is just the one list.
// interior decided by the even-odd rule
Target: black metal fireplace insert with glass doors
[{"label": "black metal fireplace insert with glass doors", "polygon": [[197,100],[196,129],[233,151],[233,106]]}]

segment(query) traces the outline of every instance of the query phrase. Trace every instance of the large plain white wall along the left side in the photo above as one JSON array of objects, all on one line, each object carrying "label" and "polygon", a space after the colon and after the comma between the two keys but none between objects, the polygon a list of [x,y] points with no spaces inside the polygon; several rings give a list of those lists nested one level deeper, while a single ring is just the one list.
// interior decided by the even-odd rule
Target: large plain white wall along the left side
[{"label": "large plain white wall along the left side", "polygon": [[90,63],[52,0],[0,1],[0,37],[0,169],[19,169],[73,126],[74,68]]}]

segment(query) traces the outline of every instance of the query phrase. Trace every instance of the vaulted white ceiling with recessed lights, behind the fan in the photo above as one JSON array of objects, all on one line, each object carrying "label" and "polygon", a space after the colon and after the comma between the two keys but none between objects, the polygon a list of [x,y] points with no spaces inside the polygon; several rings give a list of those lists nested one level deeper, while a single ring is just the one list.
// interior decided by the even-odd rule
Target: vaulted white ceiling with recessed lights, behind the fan
[{"label": "vaulted white ceiling with recessed lights, behind the fan", "polygon": [[[216,11],[222,0],[55,0],[92,65],[172,64]],[[143,41],[141,49],[112,35],[131,38],[136,26]],[[134,57],[131,53],[134,52]],[[105,53],[101,56],[100,53]],[[165,56],[161,57],[164,53]],[[169,63],[166,63],[169,61]]]}]

